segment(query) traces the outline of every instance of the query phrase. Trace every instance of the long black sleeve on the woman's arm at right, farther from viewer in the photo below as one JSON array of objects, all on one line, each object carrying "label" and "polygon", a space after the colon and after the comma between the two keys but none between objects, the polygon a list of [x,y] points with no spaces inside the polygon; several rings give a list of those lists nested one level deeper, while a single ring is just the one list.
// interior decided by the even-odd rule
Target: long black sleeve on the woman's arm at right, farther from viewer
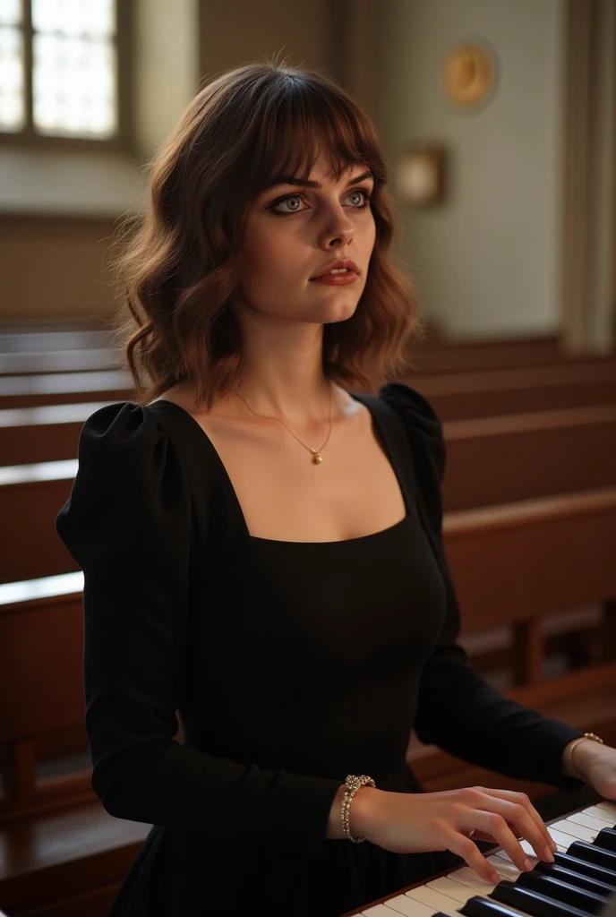
[{"label": "long black sleeve on the woman's arm at right, farther from viewer", "polygon": [[562,773],[562,754],[583,733],[505,698],[471,668],[457,643],[460,613],[442,535],[446,445],[440,419],[423,395],[402,382],[384,385],[380,395],[410,436],[418,510],[447,596],[446,620],[422,673],[415,732],[424,744],[479,767],[578,790],[584,784]]}]

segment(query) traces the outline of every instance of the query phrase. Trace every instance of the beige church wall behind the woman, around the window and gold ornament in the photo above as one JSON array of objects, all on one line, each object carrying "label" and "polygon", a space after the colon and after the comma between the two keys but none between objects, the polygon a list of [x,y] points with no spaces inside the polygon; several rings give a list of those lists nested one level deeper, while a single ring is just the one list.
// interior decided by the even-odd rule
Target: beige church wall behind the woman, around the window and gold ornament
[{"label": "beige church wall behind the woman, around the window and gold ornament", "polygon": [[[450,200],[425,213],[396,204],[397,248],[428,319],[459,337],[558,332],[566,0],[134,2],[137,155],[16,156],[0,143],[0,317],[111,315],[104,260],[114,222],[143,204],[140,167],[203,82],[277,55],[332,75],[365,108],[394,200],[409,142],[451,149]],[[446,105],[438,78],[446,51],[473,34],[500,75],[468,115]]]}]

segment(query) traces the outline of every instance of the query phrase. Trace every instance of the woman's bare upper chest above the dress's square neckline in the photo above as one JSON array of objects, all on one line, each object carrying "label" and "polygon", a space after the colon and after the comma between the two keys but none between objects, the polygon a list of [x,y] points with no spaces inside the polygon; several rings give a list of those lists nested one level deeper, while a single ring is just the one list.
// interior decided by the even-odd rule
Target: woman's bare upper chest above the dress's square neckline
[{"label": "woman's bare upper chest above the dress's square neckline", "polygon": [[272,431],[214,415],[194,419],[225,466],[250,536],[344,541],[373,535],[406,515],[379,427],[363,404],[351,420],[333,425],[319,464],[307,447],[323,441],[304,446],[282,426]]}]

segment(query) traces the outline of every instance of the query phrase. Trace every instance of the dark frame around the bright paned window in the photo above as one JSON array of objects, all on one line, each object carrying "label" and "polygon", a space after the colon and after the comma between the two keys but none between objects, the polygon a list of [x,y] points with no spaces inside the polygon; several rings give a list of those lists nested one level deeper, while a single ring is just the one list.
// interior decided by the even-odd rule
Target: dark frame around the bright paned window
[{"label": "dark frame around the bright paned window", "polygon": [[115,47],[117,51],[117,131],[114,137],[53,137],[38,134],[33,122],[32,61],[33,37],[30,0],[22,0],[23,20],[20,27],[24,37],[24,96],[26,124],[19,131],[6,131],[0,127],[0,147],[39,150],[117,152],[134,154],[135,135],[132,130],[133,79],[131,47],[134,35],[133,0],[115,2]]}]

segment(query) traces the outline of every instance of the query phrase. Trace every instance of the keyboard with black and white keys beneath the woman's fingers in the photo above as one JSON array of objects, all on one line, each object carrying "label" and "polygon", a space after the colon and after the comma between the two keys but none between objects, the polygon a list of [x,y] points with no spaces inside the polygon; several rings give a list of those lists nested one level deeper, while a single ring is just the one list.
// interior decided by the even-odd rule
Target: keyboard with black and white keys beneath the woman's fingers
[{"label": "keyboard with black and white keys beneath the woman's fingers", "polygon": [[616,913],[616,802],[546,826],[558,846],[554,863],[520,840],[531,872],[521,872],[500,848],[488,856],[501,877],[497,885],[468,866],[455,868],[342,917],[596,917],[609,899]]}]

